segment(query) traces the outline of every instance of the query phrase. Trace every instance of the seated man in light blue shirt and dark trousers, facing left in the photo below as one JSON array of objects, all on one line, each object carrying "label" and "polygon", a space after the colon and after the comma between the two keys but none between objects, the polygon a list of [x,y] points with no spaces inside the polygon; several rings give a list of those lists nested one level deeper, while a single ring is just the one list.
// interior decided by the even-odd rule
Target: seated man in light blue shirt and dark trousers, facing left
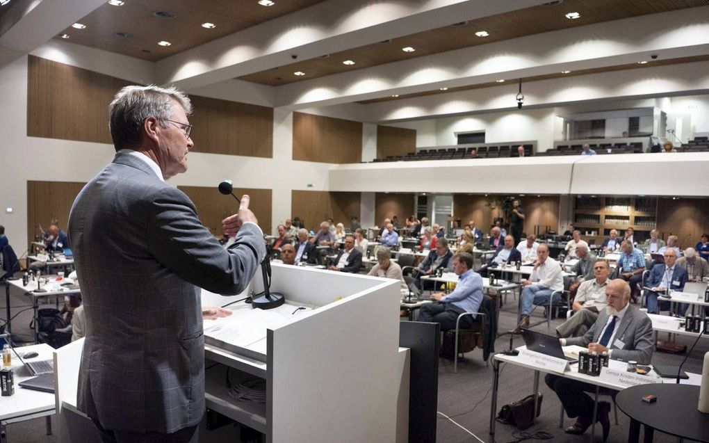
[{"label": "seated man in light blue shirt and dark trousers, facing left", "polygon": [[[418,321],[440,323],[441,330],[455,329],[458,315],[462,313],[477,313],[483,300],[483,279],[472,270],[473,256],[460,252],[453,256],[453,270],[460,279],[454,291],[450,294],[442,292],[431,296],[436,303],[421,306]],[[460,320],[459,327],[469,329],[476,314],[466,315]]]}]

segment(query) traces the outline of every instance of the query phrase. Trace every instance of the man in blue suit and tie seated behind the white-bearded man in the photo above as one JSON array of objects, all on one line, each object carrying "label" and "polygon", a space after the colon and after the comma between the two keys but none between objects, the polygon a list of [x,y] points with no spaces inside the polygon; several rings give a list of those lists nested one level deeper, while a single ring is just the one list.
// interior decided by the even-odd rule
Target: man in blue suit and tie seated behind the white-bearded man
[{"label": "man in blue suit and tie seated behind the white-bearded man", "polygon": [[[677,261],[677,252],[674,249],[667,248],[662,254],[664,257],[664,265],[652,267],[649,276],[645,280],[645,303],[647,303],[648,314],[659,314],[659,304],[657,296],[665,295],[667,288],[672,291],[682,291],[684,284],[687,282],[687,270],[675,264]],[[669,302],[664,302],[664,305]],[[678,303],[677,313],[684,315],[687,311],[687,303]]]}]

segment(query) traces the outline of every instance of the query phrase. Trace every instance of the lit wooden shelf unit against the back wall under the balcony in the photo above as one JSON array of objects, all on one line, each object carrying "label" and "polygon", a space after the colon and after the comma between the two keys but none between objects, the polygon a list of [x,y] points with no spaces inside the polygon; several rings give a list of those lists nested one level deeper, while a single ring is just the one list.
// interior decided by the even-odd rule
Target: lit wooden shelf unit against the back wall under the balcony
[{"label": "lit wooden shelf unit against the back wall under the balcony", "polygon": [[586,242],[593,240],[600,244],[612,229],[623,237],[627,228],[635,230],[636,242],[643,242],[656,224],[657,198],[654,197],[580,196],[574,199],[574,226]]}]

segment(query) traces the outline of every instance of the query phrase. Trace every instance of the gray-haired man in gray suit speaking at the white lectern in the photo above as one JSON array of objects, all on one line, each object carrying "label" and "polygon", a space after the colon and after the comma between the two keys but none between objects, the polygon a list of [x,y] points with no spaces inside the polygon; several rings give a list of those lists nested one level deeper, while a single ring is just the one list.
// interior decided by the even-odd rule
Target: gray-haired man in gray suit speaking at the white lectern
[{"label": "gray-haired man in gray suit speaking at the white lectern", "polygon": [[77,196],[69,237],[81,280],[86,342],[79,409],[104,442],[196,442],[204,405],[200,287],[233,295],[266,254],[243,196],[223,223],[229,249],[196,208],[164,183],[187,169],[189,99],[177,89],[126,86],[110,111],[116,156]]}]

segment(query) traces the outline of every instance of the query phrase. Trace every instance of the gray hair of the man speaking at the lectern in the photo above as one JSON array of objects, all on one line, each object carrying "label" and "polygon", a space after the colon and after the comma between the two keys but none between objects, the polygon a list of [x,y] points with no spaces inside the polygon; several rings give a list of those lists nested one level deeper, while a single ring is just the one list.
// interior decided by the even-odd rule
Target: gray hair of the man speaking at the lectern
[{"label": "gray hair of the man speaking at the lectern", "polygon": [[187,116],[192,113],[189,97],[174,87],[125,86],[118,91],[108,106],[108,128],[116,151],[140,144],[143,122],[148,117],[155,117],[163,128],[167,127],[174,101],[182,106]]}]

